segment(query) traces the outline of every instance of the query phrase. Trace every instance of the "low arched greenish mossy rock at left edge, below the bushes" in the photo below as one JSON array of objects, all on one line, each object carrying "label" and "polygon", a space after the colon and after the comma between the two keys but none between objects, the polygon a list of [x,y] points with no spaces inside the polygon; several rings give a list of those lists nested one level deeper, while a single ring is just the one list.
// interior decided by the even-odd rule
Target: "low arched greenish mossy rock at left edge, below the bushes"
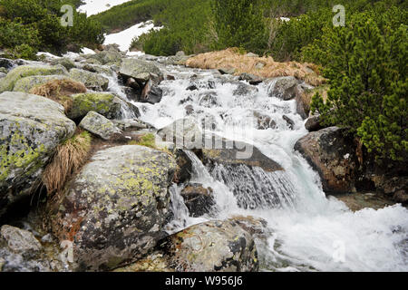
[{"label": "low arched greenish mossy rock at left edge, below the bushes", "polygon": [[16,67],[14,70],[7,73],[5,78],[0,81],[0,92],[13,91],[15,82],[32,75],[67,75],[67,70],[62,65],[44,65],[44,64],[28,64]]}]

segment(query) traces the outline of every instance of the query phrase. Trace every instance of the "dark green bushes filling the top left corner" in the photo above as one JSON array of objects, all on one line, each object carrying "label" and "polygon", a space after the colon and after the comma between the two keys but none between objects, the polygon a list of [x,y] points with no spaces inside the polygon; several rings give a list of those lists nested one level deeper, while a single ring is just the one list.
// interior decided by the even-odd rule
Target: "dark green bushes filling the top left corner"
[{"label": "dark green bushes filling the top left corner", "polygon": [[102,27],[73,9],[73,26],[61,25],[64,4],[78,0],[0,0],[0,48],[10,57],[34,59],[39,50],[50,53],[78,51],[103,43]]}]

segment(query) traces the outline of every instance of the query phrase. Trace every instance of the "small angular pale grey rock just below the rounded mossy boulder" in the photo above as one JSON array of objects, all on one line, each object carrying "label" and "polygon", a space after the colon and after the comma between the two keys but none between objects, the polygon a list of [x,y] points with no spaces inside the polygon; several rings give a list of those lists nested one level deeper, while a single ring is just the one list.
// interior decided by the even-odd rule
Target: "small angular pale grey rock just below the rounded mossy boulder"
[{"label": "small angular pale grey rock just below the rounded mossy boulder", "polygon": [[121,130],[96,111],[90,111],[79,124],[79,127],[101,137],[103,140],[124,139]]}]

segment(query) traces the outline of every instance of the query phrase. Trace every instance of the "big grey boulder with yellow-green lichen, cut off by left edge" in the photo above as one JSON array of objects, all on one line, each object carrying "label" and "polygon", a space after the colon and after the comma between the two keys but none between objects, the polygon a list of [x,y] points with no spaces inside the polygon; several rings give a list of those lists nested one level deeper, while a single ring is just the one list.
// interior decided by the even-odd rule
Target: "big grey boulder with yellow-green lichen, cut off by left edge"
[{"label": "big grey boulder with yellow-green lichen, cut off by left edge", "polygon": [[0,94],[0,216],[29,194],[54,149],[74,130],[57,102],[24,92]]}]

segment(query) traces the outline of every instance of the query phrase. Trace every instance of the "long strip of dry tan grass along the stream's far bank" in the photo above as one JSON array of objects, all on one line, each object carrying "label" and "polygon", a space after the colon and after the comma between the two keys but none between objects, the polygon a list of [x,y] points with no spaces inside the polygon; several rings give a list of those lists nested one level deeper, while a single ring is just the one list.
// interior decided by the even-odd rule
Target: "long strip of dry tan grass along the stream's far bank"
[{"label": "long strip of dry tan grass along the stream's far bank", "polygon": [[[264,64],[263,68],[257,68],[257,64]],[[270,56],[250,57],[238,53],[238,48],[228,48],[219,52],[201,53],[191,57],[187,66],[200,69],[225,69],[233,68],[236,75],[240,73],[252,73],[263,78],[275,78],[280,76],[294,76],[298,80],[305,81],[314,86],[322,85],[325,78],[319,75],[317,66],[313,63],[277,63]]]}]

